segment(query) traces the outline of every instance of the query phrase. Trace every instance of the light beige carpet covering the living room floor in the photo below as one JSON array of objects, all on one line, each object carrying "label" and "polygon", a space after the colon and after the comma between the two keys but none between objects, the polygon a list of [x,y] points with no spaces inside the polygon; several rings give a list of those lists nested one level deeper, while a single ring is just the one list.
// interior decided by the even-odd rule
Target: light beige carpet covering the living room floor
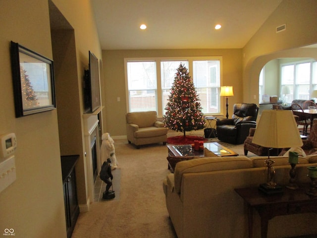
[{"label": "light beige carpet covering the living room floor", "polygon": [[[226,145],[243,155],[243,145]],[[170,173],[167,147],[154,144],[136,149],[127,140],[115,140],[114,146],[120,199],[92,203],[91,211],[80,213],[72,238],[176,238],[162,189],[162,180]]]}]

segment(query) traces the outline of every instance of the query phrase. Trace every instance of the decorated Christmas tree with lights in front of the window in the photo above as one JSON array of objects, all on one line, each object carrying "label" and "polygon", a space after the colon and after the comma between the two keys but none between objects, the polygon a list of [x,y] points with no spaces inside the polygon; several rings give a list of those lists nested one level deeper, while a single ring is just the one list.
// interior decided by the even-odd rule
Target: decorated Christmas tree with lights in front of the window
[{"label": "decorated Christmas tree with lights in front of the window", "polygon": [[165,126],[171,130],[191,131],[205,127],[197,91],[187,68],[180,64],[170,89],[164,115]]}]

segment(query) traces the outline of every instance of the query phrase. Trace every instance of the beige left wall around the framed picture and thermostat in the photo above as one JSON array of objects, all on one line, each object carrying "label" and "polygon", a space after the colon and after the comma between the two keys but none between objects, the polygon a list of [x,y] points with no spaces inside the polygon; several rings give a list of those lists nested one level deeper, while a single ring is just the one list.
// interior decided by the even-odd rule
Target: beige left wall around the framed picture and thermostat
[{"label": "beige left wall around the framed picture and thermostat", "polygon": [[[90,1],[53,2],[74,28],[78,77],[75,88],[79,96],[73,100],[81,111],[81,82],[84,67],[88,67],[88,51],[101,59]],[[15,118],[9,55],[12,40],[53,59],[48,0],[1,0],[0,29],[0,134],[14,132],[18,145],[17,179],[0,193],[0,234],[12,228],[17,238],[66,237],[57,110]],[[79,175],[85,177],[84,147],[79,152],[77,167]],[[85,203],[87,195],[83,190],[81,198]]]}]

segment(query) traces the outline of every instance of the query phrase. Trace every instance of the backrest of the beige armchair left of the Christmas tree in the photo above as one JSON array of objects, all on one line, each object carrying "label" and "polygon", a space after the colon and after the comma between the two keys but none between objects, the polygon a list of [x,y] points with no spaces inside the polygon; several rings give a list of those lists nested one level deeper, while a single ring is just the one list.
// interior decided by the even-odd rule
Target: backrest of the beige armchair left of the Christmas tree
[{"label": "backrest of the beige armchair left of the Christmas tree", "polygon": [[127,113],[127,123],[137,124],[139,128],[154,126],[158,116],[155,111]]}]

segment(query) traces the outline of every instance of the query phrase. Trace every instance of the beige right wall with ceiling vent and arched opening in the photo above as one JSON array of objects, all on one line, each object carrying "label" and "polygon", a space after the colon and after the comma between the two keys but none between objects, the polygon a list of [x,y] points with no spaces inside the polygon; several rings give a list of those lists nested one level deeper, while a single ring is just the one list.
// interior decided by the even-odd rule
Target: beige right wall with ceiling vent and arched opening
[{"label": "beige right wall with ceiling vent and arched opening", "polygon": [[[317,1],[283,0],[243,49],[243,98],[258,103],[259,74],[266,62],[285,57],[316,58],[316,49],[298,49],[317,43]],[[286,30],[276,27],[286,23]],[[252,92],[250,94],[249,92]]]}]

